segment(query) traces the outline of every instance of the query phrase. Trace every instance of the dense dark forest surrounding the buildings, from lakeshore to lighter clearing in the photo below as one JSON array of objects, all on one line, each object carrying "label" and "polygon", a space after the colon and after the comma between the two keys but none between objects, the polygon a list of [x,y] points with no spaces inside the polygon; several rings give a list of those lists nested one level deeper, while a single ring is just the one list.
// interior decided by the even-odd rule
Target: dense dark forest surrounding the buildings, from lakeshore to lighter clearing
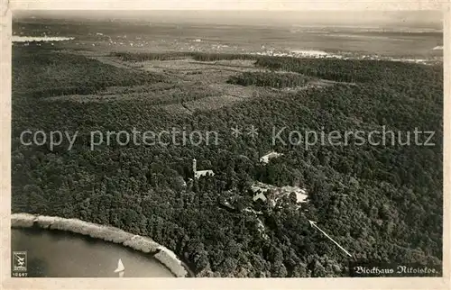
[{"label": "dense dark forest surrounding the buildings, from lakeshore to lighter clearing", "polygon": [[[185,54],[117,53],[123,60]],[[198,60],[253,59],[268,73],[243,86],[275,86],[276,70],[353,82],[256,95],[215,111],[168,114],[152,102],[45,101],[106,86],[154,86],[160,75],[115,68],[36,47],[13,50],[13,212],[110,224],[176,252],[198,276],[348,276],[350,260],[441,264],[443,74],[441,66],[389,61],[292,59],[191,53]],[[237,76],[235,79],[243,79]],[[262,80],[263,79],[263,80]],[[290,82],[298,80],[290,80]],[[114,85],[113,85],[114,84]],[[291,86],[291,85],[283,85]],[[276,87],[281,87],[277,85]],[[93,88],[93,89],[91,89]],[[94,89],[95,88],[95,89]],[[86,90],[86,92],[85,92]],[[208,146],[112,146],[89,150],[89,131],[219,131],[254,125],[256,140]],[[272,128],[436,131],[435,146],[272,145]],[[78,131],[72,150],[24,146],[24,130]],[[282,134],[283,135],[283,134]],[[286,138],[286,136],[284,136]],[[284,153],[263,166],[270,150]],[[214,177],[192,183],[191,160]],[[185,181],[187,182],[185,184]],[[301,209],[253,203],[254,181],[307,188]],[[221,206],[230,200],[234,209]],[[244,211],[253,208],[258,216]],[[264,224],[264,233],[259,227]],[[308,220],[350,251],[347,257]]]}]

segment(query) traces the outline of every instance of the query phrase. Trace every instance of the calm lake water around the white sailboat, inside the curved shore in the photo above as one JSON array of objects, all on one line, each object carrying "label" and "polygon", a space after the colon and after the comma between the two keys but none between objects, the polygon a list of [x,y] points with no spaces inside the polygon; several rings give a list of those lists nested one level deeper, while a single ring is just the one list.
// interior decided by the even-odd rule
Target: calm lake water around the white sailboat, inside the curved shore
[{"label": "calm lake water around the white sailboat, inside the curved shore", "polygon": [[119,258],[124,277],[173,277],[151,254],[66,231],[12,229],[11,249],[27,252],[31,277],[115,277]]}]

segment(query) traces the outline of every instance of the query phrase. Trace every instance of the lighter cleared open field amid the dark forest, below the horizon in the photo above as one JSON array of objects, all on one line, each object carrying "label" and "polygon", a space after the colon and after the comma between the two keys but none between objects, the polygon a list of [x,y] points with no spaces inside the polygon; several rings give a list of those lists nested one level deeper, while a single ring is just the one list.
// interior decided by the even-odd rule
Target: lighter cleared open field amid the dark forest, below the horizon
[{"label": "lighter cleared open field amid the dark forest, below the horizon", "polygon": [[[127,74],[153,77],[151,83],[147,80],[139,81],[133,78],[133,82],[130,83],[131,86],[120,86],[120,84],[114,86],[116,83],[113,80],[109,83],[110,86],[87,83],[87,87],[93,87],[93,89],[85,88],[81,92],[82,94],[70,94],[72,91],[77,92],[77,90],[70,91],[67,87],[62,90],[52,88],[51,91],[32,92],[36,97],[39,97],[40,93],[41,95],[49,95],[42,96],[48,102],[102,103],[138,100],[146,104],[163,107],[168,112],[174,110],[174,113],[192,113],[195,110],[216,110],[256,95],[280,94],[287,91],[287,88],[296,91],[327,86],[331,83],[327,80],[305,77],[302,74],[290,71],[276,70],[270,72],[266,68],[256,67],[255,59],[233,59],[229,55],[218,55],[215,57],[218,60],[211,61],[186,59],[187,56],[181,54],[174,54],[176,56],[174,59],[170,59],[172,58],[170,57],[167,60],[130,61],[84,50],[49,50],[47,53],[53,53],[57,59],[68,56],[69,59],[97,61],[99,68],[113,67],[113,70],[124,72],[125,77]],[[185,59],[182,59],[182,57]],[[42,70],[51,69],[40,66]],[[78,72],[74,71],[74,74],[78,74]],[[278,76],[280,76],[279,80],[275,80],[273,84],[266,86],[265,82]],[[249,81],[253,77],[257,77],[256,80]],[[247,80],[242,80],[244,78]],[[259,80],[259,78],[262,78],[262,80]],[[77,77],[72,77],[72,79],[77,79]],[[288,81],[283,83],[287,79]],[[295,79],[299,79],[299,81],[295,81]],[[58,81],[54,78],[49,81],[55,80]],[[94,81],[89,80],[91,83]],[[79,84],[83,82],[87,82],[87,80],[79,80]],[[121,82],[124,83],[124,80],[121,80]],[[279,83],[282,86],[275,86]]]}]

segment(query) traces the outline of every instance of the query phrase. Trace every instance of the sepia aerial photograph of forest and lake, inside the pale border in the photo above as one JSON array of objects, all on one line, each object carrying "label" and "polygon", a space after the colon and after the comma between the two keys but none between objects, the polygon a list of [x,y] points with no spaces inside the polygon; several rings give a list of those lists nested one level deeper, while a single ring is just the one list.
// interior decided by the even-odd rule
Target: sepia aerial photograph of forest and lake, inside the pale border
[{"label": "sepia aerial photograph of forest and lake, inside the pale border", "polygon": [[443,18],[14,11],[11,276],[443,276]]}]

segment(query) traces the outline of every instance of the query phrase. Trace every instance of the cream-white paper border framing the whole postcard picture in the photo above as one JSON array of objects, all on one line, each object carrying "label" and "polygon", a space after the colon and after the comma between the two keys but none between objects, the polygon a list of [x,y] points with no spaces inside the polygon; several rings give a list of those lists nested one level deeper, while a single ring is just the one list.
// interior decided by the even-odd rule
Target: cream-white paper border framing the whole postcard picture
[{"label": "cream-white paper border framing the whole postcard picture", "polygon": [[[12,10],[443,10],[445,12],[445,99],[444,99],[444,240],[442,278],[11,278],[11,11]],[[449,132],[450,95],[450,11],[446,1],[11,1],[2,0],[0,103],[0,178],[2,287],[5,289],[449,289]]]}]

